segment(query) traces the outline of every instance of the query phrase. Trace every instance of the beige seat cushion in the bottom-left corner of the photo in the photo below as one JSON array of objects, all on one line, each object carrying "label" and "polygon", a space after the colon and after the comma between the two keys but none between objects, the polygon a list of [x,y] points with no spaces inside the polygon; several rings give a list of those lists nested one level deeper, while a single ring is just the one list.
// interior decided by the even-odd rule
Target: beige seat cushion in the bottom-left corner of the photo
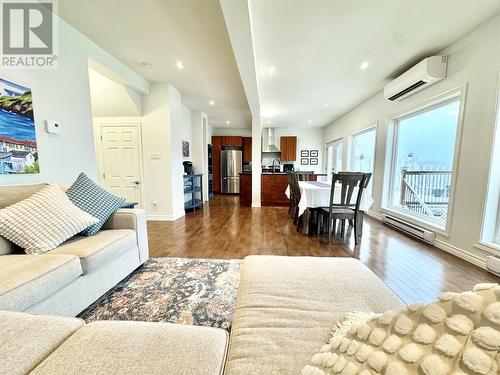
[{"label": "beige seat cushion in the bottom-left corner of the photo", "polygon": [[0,311],[0,374],[26,374],[63,343],[83,321]]}]

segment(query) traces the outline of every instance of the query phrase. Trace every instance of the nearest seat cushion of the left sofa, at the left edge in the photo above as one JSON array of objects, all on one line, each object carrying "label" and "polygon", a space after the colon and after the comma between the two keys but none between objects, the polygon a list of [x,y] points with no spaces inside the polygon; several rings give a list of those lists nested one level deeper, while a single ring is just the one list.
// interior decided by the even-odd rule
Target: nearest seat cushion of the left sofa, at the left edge
[{"label": "nearest seat cushion of the left sofa, at the left edge", "polygon": [[0,257],[0,310],[23,311],[82,274],[73,255]]}]

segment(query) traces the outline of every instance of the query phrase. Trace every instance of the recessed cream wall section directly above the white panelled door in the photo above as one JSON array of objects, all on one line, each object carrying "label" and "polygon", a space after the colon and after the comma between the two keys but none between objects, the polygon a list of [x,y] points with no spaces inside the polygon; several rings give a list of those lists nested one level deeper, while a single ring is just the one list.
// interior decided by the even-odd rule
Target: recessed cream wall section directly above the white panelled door
[{"label": "recessed cream wall section directly above the white panelled door", "polygon": [[94,117],[141,116],[141,95],[134,89],[89,68],[90,100]]}]

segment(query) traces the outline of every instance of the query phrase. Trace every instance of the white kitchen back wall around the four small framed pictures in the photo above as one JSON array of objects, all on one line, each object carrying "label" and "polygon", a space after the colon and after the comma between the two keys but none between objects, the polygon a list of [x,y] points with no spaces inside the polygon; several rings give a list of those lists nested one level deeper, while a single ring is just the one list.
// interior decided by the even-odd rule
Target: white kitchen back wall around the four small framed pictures
[{"label": "white kitchen back wall around the four small framed pictures", "polygon": [[[323,173],[323,128],[276,128],[276,146],[280,147],[280,137],[297,137],[297,160],[293,163],[295,170]],[[318,165],[301,165],[301,150],[318,150]]]}]

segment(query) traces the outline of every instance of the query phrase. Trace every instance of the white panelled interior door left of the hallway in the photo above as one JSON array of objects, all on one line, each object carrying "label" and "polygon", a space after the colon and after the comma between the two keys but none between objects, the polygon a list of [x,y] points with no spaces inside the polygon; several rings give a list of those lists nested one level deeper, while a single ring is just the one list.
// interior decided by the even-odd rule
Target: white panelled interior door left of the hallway
[{"label": "white panelled interior door left of the hallway", "polygon": [[106,189],[142,207],[139,127],[101,127],[102,166]]}]

